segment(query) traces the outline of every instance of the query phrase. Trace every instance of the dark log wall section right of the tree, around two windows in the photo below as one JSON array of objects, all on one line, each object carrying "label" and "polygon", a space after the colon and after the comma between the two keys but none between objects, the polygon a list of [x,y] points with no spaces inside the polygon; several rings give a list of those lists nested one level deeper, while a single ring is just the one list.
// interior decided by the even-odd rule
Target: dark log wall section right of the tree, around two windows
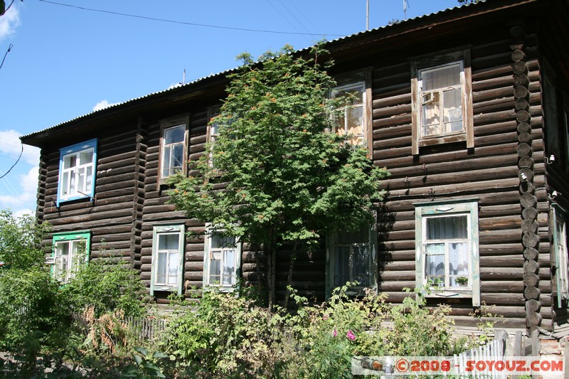
[{"label": "dark log wall section right of the tree, around two windows", "polygon": [[[385,166],[391,176],[384,181],[385,206],[393,216],[388,234],[381,238],[385,262],[380,272],[380,290],[391,301],[408,296],[405,287],[415,283],[415,206],[428,199],[479,198],[479,252],[482,301],[489,311],[508,318],[508,325],[526,325],[523,295],[523,247],[521,245],[521,196],[518,132],[514,101],[511,36],[501,33],[484,38],[480,33],[471,43],[472,94],[474,108],[474,149],[465,143],[425,146],[418,156],[411,152],[410,63],[403,59],[383,59],[373,63],[373,160]],[[457,36],[458,41],[464,39]],[[486,42],[484,40],[486,39]],[[529,112],[532,119],[534,185],[543,186],[543,139],[537,38],[526,36],[524,53],[530,79]],[[462,45],[461,45],[462,46]],[[426,46],[427,48],[429,46]],[[459,48],[460,46],[457,46]],[[417,55],[429,50],[417,50]],[[451,46],[447,48],[452,49]],[[390,51],[384,57],[393,56]],[[538,198],[544,201],[541,193]],[[541,198],[540,198],[541,196]],[[540,213],[538,223],[546,226]],[[547,235],[541,235],[546,239]],[[551,320],[548,249],[539,262],[541,314]],[[472,301],[446,300],[457,322],[469,323]],[[437,302],[445,302],[438,299]],[[550,322],[551,324],[551,322]]]}]

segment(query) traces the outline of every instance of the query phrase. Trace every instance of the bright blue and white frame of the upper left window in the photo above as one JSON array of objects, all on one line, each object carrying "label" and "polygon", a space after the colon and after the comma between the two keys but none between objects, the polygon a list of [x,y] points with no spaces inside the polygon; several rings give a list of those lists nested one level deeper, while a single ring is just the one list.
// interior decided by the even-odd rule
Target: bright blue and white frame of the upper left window
[{"label": "bright blue and white frame of the upper left window", "polygon": [[[59,176],[58,176],[58,197],[56,201],[56,206],[59,208],[61,203],[65,203],[68,201],[79,200],[82,198],[90,198],[91,201],[95,200],[95,180],[97,178],[97,139],[90,139],[85,142],[81,142],[80,144],[74,144],[71,146],[66,146],[62,149],[59,149]],[[75,193],[70,194],[68,196],[63,196],[63,160],[66,156],[70,155],[79,155],[83,151],[91,150],[93,151],[92,162],[90,166],[92,166],[92,173],[91,173],[91,191],[88,193],[79,193],[79,191],[75,191]],[[77,165],[75,166],[77,167]],[[85,166],[87,167],[87,166]],[[86,179],[85,179],[86,182]]]}]

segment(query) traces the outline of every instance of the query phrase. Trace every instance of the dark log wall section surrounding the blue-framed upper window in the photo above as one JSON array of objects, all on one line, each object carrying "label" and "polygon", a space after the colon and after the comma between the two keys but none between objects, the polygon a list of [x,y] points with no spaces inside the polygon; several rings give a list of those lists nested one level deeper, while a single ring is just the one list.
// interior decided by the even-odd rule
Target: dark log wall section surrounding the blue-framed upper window
[{"label": "dark log wall section surrounding the blue-framed upper window", "polygon": [[[38,217],[53,225],[52,232],[90,230],[91,259],[121,257],[131,259],[137,245],[135,189],[140,162],[137,155],[137,124],[121,125],[115,132],[84,136],[80,140],[61,139],[57,149],[42,149]],[[98,139],[95,200],[80,199],[56,206],[59,178],[59,147],[91,138]],[[134,234],[133,234],[134,233]],[[43,242],[51,244],[52,235]]]}]

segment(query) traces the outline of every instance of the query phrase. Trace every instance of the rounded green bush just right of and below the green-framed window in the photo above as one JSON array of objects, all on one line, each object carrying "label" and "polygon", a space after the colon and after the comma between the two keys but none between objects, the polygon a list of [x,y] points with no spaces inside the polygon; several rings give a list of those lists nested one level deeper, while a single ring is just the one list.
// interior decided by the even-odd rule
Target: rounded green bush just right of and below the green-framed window
[{"label": "rounded green bush just right of and below the green-framed window", "polygon": [[92,308],[95,316],[121,310],[124,316],[144,313],[142,297],[146,288],[139,272],[123,260],[91,260],[79,268],[75,278],[62,287],[73,311]]}]

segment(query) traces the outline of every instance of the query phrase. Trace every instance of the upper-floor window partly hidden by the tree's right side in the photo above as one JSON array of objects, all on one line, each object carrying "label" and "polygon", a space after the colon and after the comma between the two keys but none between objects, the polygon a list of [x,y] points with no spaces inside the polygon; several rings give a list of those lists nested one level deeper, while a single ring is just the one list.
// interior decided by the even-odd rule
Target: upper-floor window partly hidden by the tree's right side
[{"label": "upper-floor window partly hidden by the tree's right side", "polygon": [[331,90],[331,97],[340,99],[344,106],[338,109],[332,132],[349,135],[349,143],[372,149],[371,138],[371,69],[336,78],[339,85]]}]

